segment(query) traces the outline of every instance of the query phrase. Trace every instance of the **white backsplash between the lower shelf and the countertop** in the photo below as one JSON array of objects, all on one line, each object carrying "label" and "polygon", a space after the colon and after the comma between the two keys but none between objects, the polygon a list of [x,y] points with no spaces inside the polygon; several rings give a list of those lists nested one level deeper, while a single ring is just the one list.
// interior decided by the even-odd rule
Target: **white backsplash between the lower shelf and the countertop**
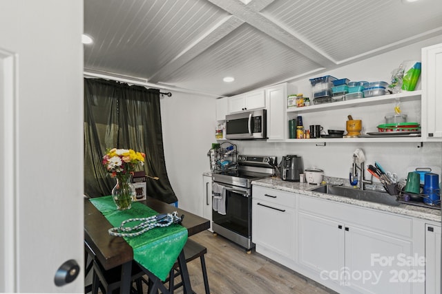
[{"label": "white backsplash between the lower shelf and the countertop", "polygon": [[[302,156],[304,168],[319,167],[325,176],[348,178],[353,163],[353,153],[357,148],[363,149],[365,165],[379,162],[385,171],[407,178],[408,171],[416,167],[430,167],[432,172],[442,171],[442,143],[327,143],[316,146],[315,143],[267,143],[259,140],[229,141],[238,146],[238,153],[243,155],[282,156],[295,154]],[[318,140],[318,145],[323,145]],[[418,147],[419,146],[419,147]],[[367,178],[369,173],[366,171]],[[375,179],[376,180],[376,179]]]}]

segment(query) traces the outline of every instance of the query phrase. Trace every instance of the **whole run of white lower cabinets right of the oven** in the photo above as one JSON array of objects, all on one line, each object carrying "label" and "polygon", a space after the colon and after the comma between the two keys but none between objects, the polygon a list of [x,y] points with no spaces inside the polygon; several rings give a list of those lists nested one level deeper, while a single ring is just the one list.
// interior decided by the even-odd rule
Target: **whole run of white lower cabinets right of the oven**
[{"label": "whole run of white lower cabinets right of the oven", "polygon": [[256,252],[338,293],[441,293],[441,227],[424,252],[419,219],[255,185],[252,195]]}]

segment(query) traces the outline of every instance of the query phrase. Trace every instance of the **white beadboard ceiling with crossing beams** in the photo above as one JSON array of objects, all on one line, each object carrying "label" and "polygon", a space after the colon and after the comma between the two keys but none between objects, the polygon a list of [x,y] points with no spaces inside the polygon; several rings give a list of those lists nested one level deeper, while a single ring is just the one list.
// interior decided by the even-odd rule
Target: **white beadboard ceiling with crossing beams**
[{"label": "white beadboard ceiling with crossing beams", "polygon": [[232,96],[440,36],[442,1],[84,0],[84,33],[86,72]]}]

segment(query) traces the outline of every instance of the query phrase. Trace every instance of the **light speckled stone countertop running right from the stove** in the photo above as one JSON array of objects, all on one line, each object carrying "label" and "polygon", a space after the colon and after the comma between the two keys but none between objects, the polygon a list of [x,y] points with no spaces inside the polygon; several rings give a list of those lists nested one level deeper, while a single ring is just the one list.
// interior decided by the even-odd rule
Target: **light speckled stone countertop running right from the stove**
[{"label": "light speckled stone countertop running right from the stove", "polygon": [[[340,184],[340,182],[330,182],[327,178],[325,178],[329,184]],[[311,185],[308,183],[300,183],[300,182],[287,182],[283,181],[280,178],[271,177],[265,178],[262,180],[254,180],[251,182],[252,185],[262,186],[271,189],[277,189],[281,191],[287,191],[292,193],[299,193],[305,196],[311,196],[321,199],[332,200],[340,203],[347,203],[357,205],[359,207],[366,207],[370,209],[377,209],[379,211],[387,211],[391,213],[398,213],[403,216],[412,216],[415,218],[421,218],[424,220],[431,220],[434,222],[441,222],[441,210],[440,209],[431,209],[426,207],[419,207],[416,205],[410,204],[399,204],[399,206],[391,206],[387,204],[378,204],[374,202],[367,202],[363,200],[356,200],[352,198],[342,197],[342,196],[334,196],[325,193],[319,193],[315,191],[310,191],[311,189],[315,189],[318,187],[317,185]]]}]

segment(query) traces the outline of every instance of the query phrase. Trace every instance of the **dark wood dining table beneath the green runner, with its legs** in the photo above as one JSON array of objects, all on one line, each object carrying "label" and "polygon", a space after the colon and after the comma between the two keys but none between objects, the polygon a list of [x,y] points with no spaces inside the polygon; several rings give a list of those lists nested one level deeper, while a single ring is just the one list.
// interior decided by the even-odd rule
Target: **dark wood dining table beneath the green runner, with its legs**
[{"label": "dark wood dining table beneath the green runner, with its legs", "polygon": [[[184,215],[182,226],[187,229],[189,236],[209,229],[210,222],[206,218],[196,216],[189,211],[184,211],[177,207],[147,197],[140,203],[147,205],[157,213],[172,213],[177,211],[178,216]],[[84,242],[90,250],[95,253],[95,258],[102,264],[104,269],[113,269],[115,266],[122,266],[120,293],[130,293],[131,288],[131,268],[133,262],[133,249],[121,237],[108,234],[108,229],[113,226],[103,216],[103,214],[88,200],[84,200]],[[189,273],[186,268],[184,252],[178,257],[180,269],[182,269],[184,293],[192,293]]]}]

